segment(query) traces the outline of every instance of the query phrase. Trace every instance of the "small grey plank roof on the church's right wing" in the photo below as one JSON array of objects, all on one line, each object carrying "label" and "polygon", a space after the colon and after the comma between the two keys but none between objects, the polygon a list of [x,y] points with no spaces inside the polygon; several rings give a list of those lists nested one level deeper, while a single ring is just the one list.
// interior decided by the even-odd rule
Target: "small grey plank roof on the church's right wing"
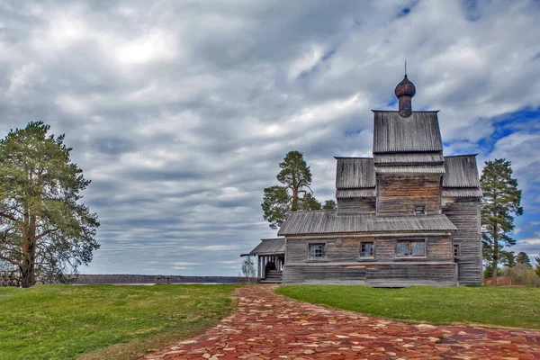
[{"label": "small grey plank roof on the church's right wing", "polygon": [[445,170],[443,187],[480,187],[476,154],[445,157]]}]

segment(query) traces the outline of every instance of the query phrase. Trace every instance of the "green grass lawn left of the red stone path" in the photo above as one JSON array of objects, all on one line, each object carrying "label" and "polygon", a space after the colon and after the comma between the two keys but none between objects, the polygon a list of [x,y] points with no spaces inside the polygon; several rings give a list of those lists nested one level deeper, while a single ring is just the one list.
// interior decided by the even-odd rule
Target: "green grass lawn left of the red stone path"
[{"label": "green grass lawn left of the red stone path", "polygon": [[0,358],[131,359],[216,324],[235,285],[0,288]]}]

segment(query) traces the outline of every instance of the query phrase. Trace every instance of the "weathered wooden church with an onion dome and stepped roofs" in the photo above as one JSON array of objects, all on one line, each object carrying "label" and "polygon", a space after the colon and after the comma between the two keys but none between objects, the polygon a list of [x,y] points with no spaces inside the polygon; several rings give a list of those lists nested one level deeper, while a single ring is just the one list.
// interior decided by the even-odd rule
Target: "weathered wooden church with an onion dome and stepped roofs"
[{"label": "weathered wooden church with an onion dome and stepped roofs", "polygon": [[373,157],[336,157],[338,210],[290,212],[249,255],[262,283],[482,284],[476,155],[443,156],[437,111],[374,111]]}]

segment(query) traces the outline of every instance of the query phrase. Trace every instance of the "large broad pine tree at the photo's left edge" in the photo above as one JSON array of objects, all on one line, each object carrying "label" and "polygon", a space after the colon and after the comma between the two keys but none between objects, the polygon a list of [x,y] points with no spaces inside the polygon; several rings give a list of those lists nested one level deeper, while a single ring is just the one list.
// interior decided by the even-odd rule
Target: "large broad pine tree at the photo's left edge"
[{"label": "large broad pine tree at the photo's left edge", "polygon": [[71,163],[64,135],[30,122],[0,140],[0,262],[11,264],[20,284],[63,279],[92,261],[97,216],[80,203],[90,184]]}]

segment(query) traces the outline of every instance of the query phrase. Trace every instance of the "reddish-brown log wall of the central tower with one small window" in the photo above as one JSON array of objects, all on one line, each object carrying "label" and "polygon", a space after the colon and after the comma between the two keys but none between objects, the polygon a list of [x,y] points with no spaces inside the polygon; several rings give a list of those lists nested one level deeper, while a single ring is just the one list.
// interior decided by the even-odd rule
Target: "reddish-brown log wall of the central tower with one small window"
[{"label": "reddish-brown log wall of the central tower with one small window", "polygon": [[426,205],[427,213],[440,213],[441,175],[377,175],[377,213],[413,214]]}]

